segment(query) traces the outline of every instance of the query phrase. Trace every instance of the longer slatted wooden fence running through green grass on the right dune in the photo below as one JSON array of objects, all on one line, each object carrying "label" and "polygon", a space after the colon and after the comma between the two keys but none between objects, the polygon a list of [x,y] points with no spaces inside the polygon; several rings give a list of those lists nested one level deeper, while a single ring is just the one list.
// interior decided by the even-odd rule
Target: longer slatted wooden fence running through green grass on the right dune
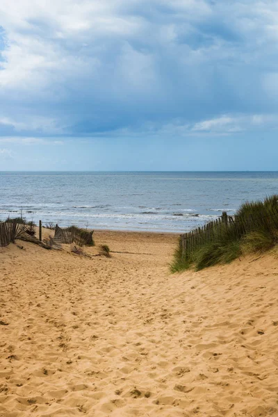
[{"label": "longer slatted wooden fence running through green grass on the right dune", "polygon": [[230,237],[233,240],[235,237],[240,238],[250,231],[255,231],[257,227],[268,229],[278,229],[278,208],[272,208],[267,215],[261,215],[254,218],[248,215],[247,218],[238,216],[229,216],[223,211],[220,218],[213,222],[204,224],[203,227],[197,227],[193,231],[180,236],[181,254],[184,257],[190,256],[197,248],[206,243],[219,242],[223,236]]}]

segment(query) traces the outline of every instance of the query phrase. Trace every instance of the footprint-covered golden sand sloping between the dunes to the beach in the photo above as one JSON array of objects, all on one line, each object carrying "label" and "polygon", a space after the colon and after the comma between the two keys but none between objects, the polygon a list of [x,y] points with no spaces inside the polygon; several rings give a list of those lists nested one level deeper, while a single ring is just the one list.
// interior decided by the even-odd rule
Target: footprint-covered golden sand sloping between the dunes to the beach
[{"label": "footprint-covered golden sand sloping between the dunes to the beach", "polygon": [[176,239],[0,250],[1,417],[278,416],[278,261],[170,275]]}]

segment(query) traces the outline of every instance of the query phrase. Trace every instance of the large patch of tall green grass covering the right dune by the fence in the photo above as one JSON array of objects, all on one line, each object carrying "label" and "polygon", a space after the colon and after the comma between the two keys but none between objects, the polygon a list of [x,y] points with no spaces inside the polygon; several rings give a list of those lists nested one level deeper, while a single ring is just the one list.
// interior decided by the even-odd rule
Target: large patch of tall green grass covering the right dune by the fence
[{"label": "large patch of tall green grass covering the right dune by the fence", "polygon": [[[205,233],[205,232],[202,232]],[[246,202],[236,212],[234,222],[218,224],[209,240],[200,239],[190,253],[183,254],[179,243],[170,265],[172,272],[229,263],[240,255],[265,252],[278,243],[278,195],[263,202]]]}]

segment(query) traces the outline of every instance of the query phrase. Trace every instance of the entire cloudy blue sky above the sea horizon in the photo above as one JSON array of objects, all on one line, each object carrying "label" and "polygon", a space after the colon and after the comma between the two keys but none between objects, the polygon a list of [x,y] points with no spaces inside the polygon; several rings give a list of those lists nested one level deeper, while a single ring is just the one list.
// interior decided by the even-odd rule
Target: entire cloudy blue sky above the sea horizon
[{"label": "entire cloudy blue sky above the sea horizon", "polygon": [[1,0],[0,170],[278,170],[278,3]]}]

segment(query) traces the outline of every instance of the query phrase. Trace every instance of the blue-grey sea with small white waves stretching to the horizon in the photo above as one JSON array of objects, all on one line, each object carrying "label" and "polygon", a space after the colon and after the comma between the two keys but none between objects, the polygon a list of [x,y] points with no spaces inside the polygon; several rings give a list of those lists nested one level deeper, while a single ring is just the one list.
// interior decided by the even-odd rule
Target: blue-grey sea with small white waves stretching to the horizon
[{"label": "blue-grey sea with small white waves stretching to the horizon", "polygon": [[0,220],[185,232],[278,193],[278,172],[0,172]]}]

